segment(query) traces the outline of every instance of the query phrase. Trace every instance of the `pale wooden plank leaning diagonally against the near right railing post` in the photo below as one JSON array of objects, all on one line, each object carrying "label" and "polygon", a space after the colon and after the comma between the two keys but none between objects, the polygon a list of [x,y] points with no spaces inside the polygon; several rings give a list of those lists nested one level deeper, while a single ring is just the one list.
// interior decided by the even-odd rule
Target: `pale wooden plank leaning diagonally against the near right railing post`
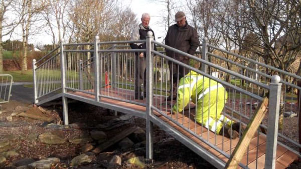
[{"label": "pale wooden plank leaning diagonally against the near right railing post", "polygon": [[239,161],[242,159],[244,153],[246,152],[249,143],[251,142],[252,136],[257,131],[265,113],[266,107],[268,105],[268,98],[265,97],[257,108],[255,115],[252,117],[250,123],[247,125],[242,138],[239,140],[238,145],[235,147],[230,159],[225,165],[225,168],[237,168]]}]

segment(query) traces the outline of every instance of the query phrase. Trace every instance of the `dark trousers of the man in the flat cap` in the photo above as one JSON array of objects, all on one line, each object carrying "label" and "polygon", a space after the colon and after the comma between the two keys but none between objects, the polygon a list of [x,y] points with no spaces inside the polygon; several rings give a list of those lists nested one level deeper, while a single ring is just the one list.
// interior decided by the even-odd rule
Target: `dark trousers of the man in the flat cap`
[{"label": "dark trousers of the man in the flat cap", "polygon": [[[181,60],[182,63],[189,65],[189,61],[190,59],[186,59],[184,58],[183,60]],[[170,87],[170,93],[173,96],[173,98],[177,97],[177,90],[178,90],[178,80],[180,80],[179,78],[173,79],[173,75],[174,74],[183,74],[184,76],[189,73],[189,69],[175,64],[171,61],[168,61],[168,67],[169,67],[169,71],[170,71],[170,83],[173,85],[171,85]]]}]

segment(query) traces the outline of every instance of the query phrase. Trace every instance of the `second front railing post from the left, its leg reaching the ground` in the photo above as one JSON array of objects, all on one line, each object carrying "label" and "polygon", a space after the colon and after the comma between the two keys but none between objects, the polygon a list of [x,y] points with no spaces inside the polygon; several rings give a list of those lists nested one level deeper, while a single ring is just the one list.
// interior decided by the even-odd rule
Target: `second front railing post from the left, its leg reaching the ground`
[{"label": "second front railing post from the left, its leg reaching the ground", "polygon": [[68,98],[65,97],[66,93],[66,58],[64,56],[64,39],[61,40],[61,53],[60,53],[60,59],[61,59],[61,78],[62,78],[62,101],[63,101],[63,120],[64,124],[69,124],[68,119]]}]

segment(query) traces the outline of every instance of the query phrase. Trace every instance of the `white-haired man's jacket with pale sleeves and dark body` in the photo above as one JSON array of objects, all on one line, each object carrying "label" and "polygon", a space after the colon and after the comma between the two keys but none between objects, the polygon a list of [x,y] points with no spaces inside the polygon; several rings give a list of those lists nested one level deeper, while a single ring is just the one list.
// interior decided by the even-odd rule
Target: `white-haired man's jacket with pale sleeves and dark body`
[{"label": "white-haired man's jacket with pale sleeves and dark body", "polygon": [[[130,40],[131,41],[144,40],[144,39],[146,39],[148,31],[153,32],[153,36],[154,36],[154,40],[155,40],[154,31],[150,27],[144,28],[142,24],[139,24],[137,27],[134,28],[134,30],[131,34]],[[132,44],[129,44],[129,46],[131,49],[145,49],[146,48],[145,43],[132,43]],[[157,51],[156,45],[154,46],[154,50]],[[145,57],[145,54],[144,54],[144,57]]]}]

